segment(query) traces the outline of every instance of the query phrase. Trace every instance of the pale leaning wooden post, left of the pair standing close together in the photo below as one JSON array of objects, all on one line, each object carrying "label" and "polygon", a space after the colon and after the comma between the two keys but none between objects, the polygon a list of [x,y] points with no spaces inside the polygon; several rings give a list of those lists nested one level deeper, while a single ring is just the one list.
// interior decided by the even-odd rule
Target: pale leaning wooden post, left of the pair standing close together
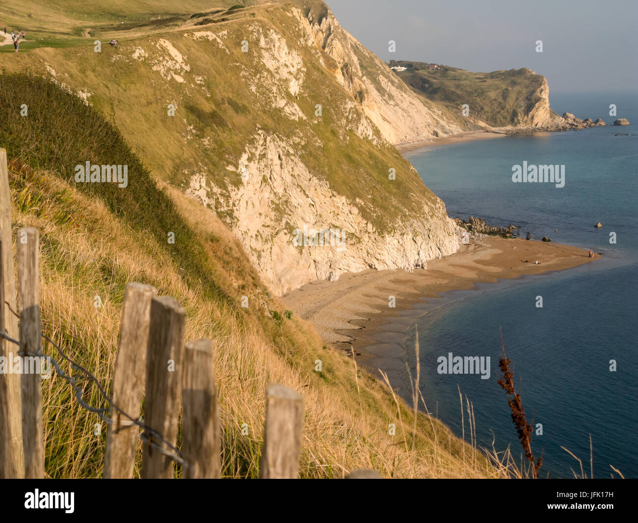
[{"label": "pale leaning wooden post, left of the pair standing close together", "polygon": [[[146,383],[146,352],[151,322],[151,285],[128,284],[122,303],[120,338],[113,373],[112,400],[122,411],[140,415]],[[113,425],[108,427],[104,478],[132,478],[140,428],[111,407]]]}]

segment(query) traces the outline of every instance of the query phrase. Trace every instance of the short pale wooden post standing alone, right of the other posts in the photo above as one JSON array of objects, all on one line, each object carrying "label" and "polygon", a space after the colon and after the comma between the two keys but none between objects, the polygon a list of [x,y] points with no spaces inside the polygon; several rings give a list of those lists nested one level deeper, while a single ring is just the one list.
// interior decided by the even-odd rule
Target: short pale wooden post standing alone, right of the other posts
[{"label": "short pale wooden post standing alone, right of the other posts", "polygon": [[266,422],[259,477],[286,479],[299,476],[304,397],[283,385],[266,388]]}]

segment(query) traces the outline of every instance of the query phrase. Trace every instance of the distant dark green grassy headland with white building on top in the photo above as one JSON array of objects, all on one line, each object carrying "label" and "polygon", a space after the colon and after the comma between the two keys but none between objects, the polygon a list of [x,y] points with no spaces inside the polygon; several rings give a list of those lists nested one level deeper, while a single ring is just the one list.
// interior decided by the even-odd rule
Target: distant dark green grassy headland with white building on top
[{"label": "distant dark green grassy headland with white building on top", "polygon": [[395,65],[407,68],[397,75],[415,92],[456,114],[467,103],[470,116],[491,126],[521,125],[540,102],[537,91],[545,81],[526,68],[473,73],[449,66],[427,70],[429,64],[422,62],[396,61]]}]

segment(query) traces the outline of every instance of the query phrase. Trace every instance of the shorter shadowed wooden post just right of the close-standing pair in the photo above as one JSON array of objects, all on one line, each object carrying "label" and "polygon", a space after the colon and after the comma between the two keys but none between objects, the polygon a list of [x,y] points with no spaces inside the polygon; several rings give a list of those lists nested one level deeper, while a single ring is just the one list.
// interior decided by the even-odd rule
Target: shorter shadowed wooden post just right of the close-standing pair
[{"label": "shorter shadowed wooden post just right of the close-standing pair", "polygon": [[220,478],[221,433],[211,341],[188,342],[182,367],[184,477]]}]

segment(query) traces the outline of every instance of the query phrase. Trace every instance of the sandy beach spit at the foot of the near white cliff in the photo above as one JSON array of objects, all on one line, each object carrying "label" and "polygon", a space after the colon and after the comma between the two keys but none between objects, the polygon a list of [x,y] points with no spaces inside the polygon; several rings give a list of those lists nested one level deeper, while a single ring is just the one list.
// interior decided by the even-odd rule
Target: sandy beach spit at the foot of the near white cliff
[{"label": "sandy beach spit at the foot of the near white cliff", "polygon": [[[375,271],[341,275],[334,282],[311,282],[281,299],[286,307],[313,322],[323,338],[334,347],[357,351],[384,340],[374,337],[375,326],[387,324],[422,298],[441,292],[470,289],[474,284],[500,278],[560,271],[596,261],[588,251],[574,246],[526,241],[525,239],[480,238],[461,246],[454,255],[427,262],[427,269]],[[535,262],[538,261],[538,264]],[[395,296],[396,307],[389,307]],[[420,313],[422,314],[422,313]],[[403,326],[399,326],[401,330]],[[387,340],[389,342],[390,340]],[[372,357],[363,352],[364,357]]]}]

